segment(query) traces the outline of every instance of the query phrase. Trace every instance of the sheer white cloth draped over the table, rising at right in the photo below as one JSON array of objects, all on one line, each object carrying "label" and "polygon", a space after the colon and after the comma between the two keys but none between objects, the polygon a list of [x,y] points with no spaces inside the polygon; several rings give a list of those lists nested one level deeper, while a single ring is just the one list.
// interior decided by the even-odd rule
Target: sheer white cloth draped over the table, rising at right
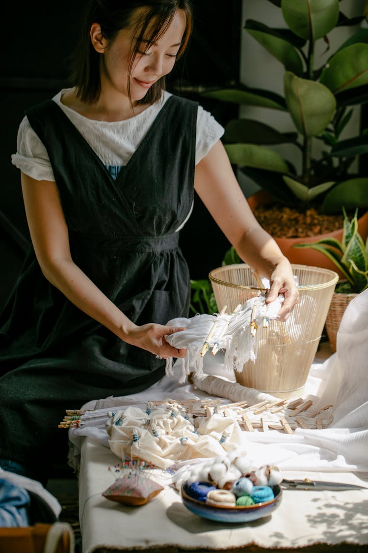
[{"label": "sheer white cloth draped over the table, rising at right", "polygon": [[[316,409],[333,405],[332,424],[318,430],[298,428],[291,435],[277,430],[242,431],[239,433],[239,446],[252,452],[253,460],[259,466],[268,462],[283,471],[368,472],[367,359],[368,290],[356,296],[346,308],[337,335],[337,352],[323,363],[313,363],[303,394],[305,399],[313,400]],[[206,356],[204,372],[234,380],[221,361],[223,357],[220,354],[215,358]],[[78,465],[83,436],[109,447],[109,436],[104,426],[108,408],[141,405],[145,409],[150,400],[209,397],[191,384],[179,384],[180,367],[175,365],[173,370],[174,377],[164,377],[145,392],[91,401],[84,405],[84,409],[103,409],[105,418],[102,416],[99,426],[84,426],[69,431],[71,465]]]}]

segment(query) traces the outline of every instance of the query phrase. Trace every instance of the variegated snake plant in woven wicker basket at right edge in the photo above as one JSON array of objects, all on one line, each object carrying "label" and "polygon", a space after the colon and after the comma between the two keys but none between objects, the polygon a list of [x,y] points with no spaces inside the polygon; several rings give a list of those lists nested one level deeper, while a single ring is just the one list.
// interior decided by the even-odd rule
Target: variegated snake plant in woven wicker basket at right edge
[{"label": "variegated snake plant in woven wicker basket at right edge", "polygon": [[368,238],[366,242],[358,232],[358,210],[349,221],[343,208],[344,228],[341,241],[323,238],[310,243],[301,243],[296,248],[312,248],[326,255],[339,273],[343,274],[334,290],[326,319],[326,332],[330,347],[336,350],[336,335],[346,306],[358,294],[368,288]]}]

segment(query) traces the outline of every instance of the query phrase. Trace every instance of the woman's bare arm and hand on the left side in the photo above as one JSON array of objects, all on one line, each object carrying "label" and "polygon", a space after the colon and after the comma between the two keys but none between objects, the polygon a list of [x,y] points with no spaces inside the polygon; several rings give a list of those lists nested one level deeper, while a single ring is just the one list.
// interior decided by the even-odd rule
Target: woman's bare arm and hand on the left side
[{"label": "woman's bare arm and hand on the left side", "polygon": [[73,262],[68,228],[55,182],[22,173],[22,191],[32,243],[42,273],[74,305],[109,328],[121,340],[165,357],[185,357],[164,335],[182,330],[148,323],[137,326]]}]

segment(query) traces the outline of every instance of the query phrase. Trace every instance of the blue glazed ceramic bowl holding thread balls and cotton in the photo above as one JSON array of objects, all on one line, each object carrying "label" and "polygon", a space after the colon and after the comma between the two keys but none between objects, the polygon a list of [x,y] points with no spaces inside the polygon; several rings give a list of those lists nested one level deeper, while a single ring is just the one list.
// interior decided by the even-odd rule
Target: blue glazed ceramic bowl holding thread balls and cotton
[{"label": "blue glazed ceramic bowl holding thread balls and cotton", "polygon": [[188,484],[185,482],[180,490],[185,507],[192,513],[199,515],[199,517],[217,520],[218,522],[250,522],[268,517],[279,507],[282,498],[281,488],[279,486],[272,486],[275,497],[271,501],[255,503],[247,507],[216,507],[216,505],[210,505],[191,498],[186,493],[187,486]]}]

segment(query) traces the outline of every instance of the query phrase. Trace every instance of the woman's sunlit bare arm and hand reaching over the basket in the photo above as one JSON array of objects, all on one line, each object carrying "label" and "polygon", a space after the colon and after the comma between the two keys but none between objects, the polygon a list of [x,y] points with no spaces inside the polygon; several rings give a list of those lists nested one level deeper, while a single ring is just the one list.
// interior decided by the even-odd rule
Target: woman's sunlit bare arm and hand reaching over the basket
[{"label": "woman's sunlit bare arm and hand reaching over the basket", "polygon": [[220,140],[196,166],[194,186],[239,257],[270,280],[268,301],[284,294],[279,315],[286,320],[298,298],[291,265],[254,217]]}]

